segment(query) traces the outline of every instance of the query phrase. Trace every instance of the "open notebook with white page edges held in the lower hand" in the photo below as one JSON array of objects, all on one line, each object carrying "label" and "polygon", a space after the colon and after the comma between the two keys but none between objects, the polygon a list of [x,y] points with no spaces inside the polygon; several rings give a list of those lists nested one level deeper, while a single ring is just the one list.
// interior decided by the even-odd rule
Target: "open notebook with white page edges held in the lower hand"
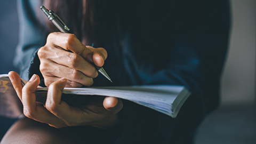
[{"label": "open notebook with white page edges held in the lower hand", "polygon": [[[8,94],[6,93],[6,86],[11,89],[13,87],[8,75],[0,75],[0,82],[0,97],[3,97],[4,94]],[[26,81],[22,79],[22,83],[25,84]],[[36,90],[37,97],[45,97],[47,90],[47,87],[38,87]],[[85,95],[85,97],[86,95],[101,95],[130,100],[173,118],[177,116],[181,106],[190,95],[190,92],[184,86],[175,85],[66,87],[62,93]]]}]

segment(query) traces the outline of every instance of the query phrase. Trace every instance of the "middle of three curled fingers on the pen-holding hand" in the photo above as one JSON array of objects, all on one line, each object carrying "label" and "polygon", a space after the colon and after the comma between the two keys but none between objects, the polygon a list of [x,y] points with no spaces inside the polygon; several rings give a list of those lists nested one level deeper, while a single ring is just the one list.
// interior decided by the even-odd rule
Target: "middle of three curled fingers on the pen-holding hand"
[{"label": "middle of three curled fingers on the pen-holding hand", "polygon": [[41,47],[40,51],[38,51],[38,57],[39,59],[45,59],[45,57],[49,59],[49,61],[41,60],[41,71],[48,71],[49,68],[53,67],[51,65],[52,62],[54,62],[71,69],[79,70],[84,75],[89,77],[94,78],[98,76],[98,72],[95,67],[76,53],[68,52],[62,49],[54,49],[51,47]]}]

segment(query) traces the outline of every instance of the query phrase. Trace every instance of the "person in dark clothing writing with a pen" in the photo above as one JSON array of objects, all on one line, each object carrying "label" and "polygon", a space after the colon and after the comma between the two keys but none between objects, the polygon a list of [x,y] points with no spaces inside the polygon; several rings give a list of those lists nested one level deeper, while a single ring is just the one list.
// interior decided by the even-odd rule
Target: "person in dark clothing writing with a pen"
[{"label": "person in dark clothing writing with a pen", "polygon": [[[39,12],[43,4],[73,34],[53,32]],[[199,123],[218,106],[229,1],[22,0],[18,8],[14,63],[30,80],[22,87],[17,73],[9,77],[26,117],[2,143],[193,143]],[[92,63],[104,66],[114,83]],[[177,118],[113,97],[79,107],[61,100],[65,86],[151,84],[192,92]],[[44,106],[35,100],[38,85],[49,86]]]}]

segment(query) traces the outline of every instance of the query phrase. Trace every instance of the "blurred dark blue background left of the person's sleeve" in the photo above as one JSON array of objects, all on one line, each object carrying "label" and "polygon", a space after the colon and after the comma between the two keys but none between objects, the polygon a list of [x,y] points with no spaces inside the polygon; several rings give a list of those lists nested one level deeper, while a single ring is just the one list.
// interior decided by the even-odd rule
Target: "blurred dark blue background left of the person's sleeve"
[{"label": "blurred dark blue background left of the person's sleeve", "polygon": [[[19,0],[18,0],[19,1]],[[19,25],[17,4],[14,0],[0,1],[0,74],[17,71],[12,65],[18,44]],[[15,119],[0,117],[0,139]]]}]

